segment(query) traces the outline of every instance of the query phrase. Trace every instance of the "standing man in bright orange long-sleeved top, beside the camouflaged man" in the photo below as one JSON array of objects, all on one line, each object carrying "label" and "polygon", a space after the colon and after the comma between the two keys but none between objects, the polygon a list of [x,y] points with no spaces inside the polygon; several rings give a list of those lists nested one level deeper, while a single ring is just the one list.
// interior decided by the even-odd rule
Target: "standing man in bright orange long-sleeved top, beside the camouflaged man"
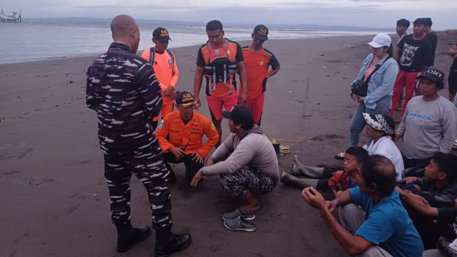
[{"label": "standing man in bright orange long-sleeved top, beside the camouflaged man", "polygon": [[[176,64],[175,54],[168,47],[170,41],[168,30],[163,27],[157,27],[153,32],[153,43],[155,47],[144,50],[142,57],[145,58],[155,72],[157,80],[159,80],[162,99],[164,103],[160,114],[162,118],[173,111],[173,101],[176,98],[175,87],[179,79],[178,66]],[[157,127],[159,116],[153,118],[153,129]]]}]

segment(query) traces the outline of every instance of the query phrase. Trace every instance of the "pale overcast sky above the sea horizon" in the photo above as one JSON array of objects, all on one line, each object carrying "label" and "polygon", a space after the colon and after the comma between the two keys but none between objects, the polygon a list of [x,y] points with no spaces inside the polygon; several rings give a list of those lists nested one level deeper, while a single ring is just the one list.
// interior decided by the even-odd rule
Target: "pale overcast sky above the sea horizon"
[{"label": "pale overcast sky above the sea horizon", "polygon": [[394,27],[397,19],[432,17],[435,30],[456,29],[457,0],[1,0],[5,12],[38,17],[112,18],[223,23]]}]

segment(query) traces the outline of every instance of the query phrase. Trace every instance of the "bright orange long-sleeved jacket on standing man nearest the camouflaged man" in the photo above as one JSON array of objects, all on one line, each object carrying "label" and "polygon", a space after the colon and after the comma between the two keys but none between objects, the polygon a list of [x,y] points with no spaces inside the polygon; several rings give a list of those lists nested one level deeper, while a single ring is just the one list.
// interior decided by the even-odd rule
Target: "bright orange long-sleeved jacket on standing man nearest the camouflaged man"
[{"label": "bright orange long-sleeved jacket on standing man nearest the camouflaged man", "polygon": [[[150,56],[151,49],[146,49],[142,53],[142,57],[148,62]],[[151,63],[151,65],[153,65],[155,76],[157,77],[157,80],[159,80],[164,104],[172,104],[173,100],[170,96],[164,96],[164,91],[168,87],[176,87],[178,82],[179,70],[178,65],[176,64],[176,58],[172,58],[170,54],[168,54],[168,51],[164,51],[162,54],[155,52],[154,60],[154,63]]]}]

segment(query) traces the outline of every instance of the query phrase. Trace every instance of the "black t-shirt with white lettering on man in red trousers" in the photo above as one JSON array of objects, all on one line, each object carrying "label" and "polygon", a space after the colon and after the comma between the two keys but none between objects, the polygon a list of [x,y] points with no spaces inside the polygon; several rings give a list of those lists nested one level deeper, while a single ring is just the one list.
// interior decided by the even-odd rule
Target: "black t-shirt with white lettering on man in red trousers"
[{"label": "black t-shirt with white lettering on man in red trousers", "polygon": [[419,40],[412,34],[403,36],[398,44],[400,49],[399,68],[402,71],[419,72],[430,59],[430,43],[424,37]]}]

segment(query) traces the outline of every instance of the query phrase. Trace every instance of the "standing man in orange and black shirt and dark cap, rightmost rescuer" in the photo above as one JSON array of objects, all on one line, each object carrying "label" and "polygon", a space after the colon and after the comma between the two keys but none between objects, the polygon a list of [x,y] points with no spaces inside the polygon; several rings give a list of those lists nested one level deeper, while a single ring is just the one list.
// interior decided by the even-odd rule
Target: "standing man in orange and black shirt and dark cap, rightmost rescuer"
[{"label": "standing man in orange and black shirt and dark cap, rightmost rescuer", "polygon": [[[267,90],[267,78],[277,74],[280,65],[276,56],[263,47],[263,43],[268,40],[268,28],[265,25],[256,25],[251,36],[252,44],[241,47],[247,74],[245,105],[251,109],[254,123],[260,126],[265,91]],[[270,70],[269,66],[271,66]],[[239,93],[240,95],[243,93],[243,87],[240,87]]]}]

